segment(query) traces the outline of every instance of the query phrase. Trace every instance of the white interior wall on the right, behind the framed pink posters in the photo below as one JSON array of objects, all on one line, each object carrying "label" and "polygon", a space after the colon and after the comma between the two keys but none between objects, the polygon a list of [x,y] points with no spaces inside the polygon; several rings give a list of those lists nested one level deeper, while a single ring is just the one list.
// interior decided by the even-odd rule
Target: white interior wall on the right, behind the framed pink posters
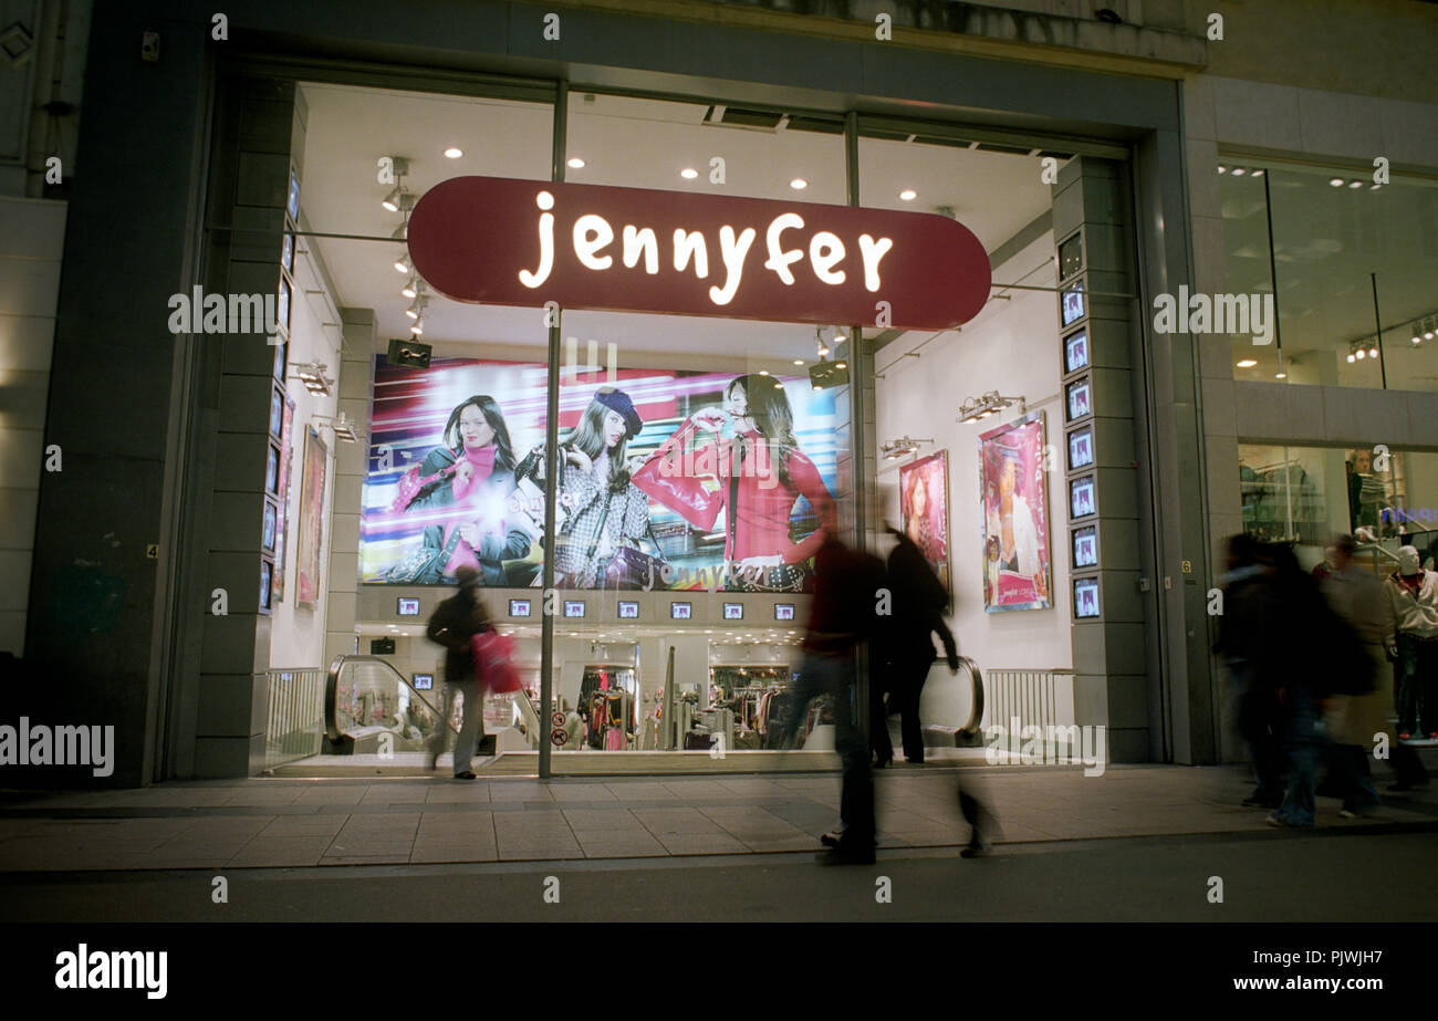
[{"label": "white interior wall on the right, behind the framed pink posters", "polygon": [[[1054,286],[1054,239],[1044,234],[1002,266],[994,269],[999,283]],[[946,331],[919,351],[903,358],[925,335],[906,334],[876,357],[884,374],[876,380],[879,441],[900,436],[933,437],[919,456],[949,452],[949,558],[953,577],[953,614],[948,618],[959,651],[981,670],[1068,669],[1070,646],[1068,532],[1064,508],[1063,407],[1060,393],[1060,347],[1055,298],[1044,290],[1009,290],[995,298],[962,331]],[[1048,473],[1048,535],[1054,605],[1050,610],[985,613],[981,581],[982,515],[978,493],[979,434],[1020,417],[1018,406],[982,423],[956,421],[965,397],[998,390],[1005,397],[1028,398],[1030,411],[1045,414],[1047,443],[1060,450]],[[886,513],[899,523],[900,462],[879,462],[879,485]],[[886,551],[887,552],[887,551]],[[936,644],[938,647],[938,644]],[[942,659],[929,674],[920,708],[926,723],[959,726],[968,719],[966,682],[949,674]]]}]

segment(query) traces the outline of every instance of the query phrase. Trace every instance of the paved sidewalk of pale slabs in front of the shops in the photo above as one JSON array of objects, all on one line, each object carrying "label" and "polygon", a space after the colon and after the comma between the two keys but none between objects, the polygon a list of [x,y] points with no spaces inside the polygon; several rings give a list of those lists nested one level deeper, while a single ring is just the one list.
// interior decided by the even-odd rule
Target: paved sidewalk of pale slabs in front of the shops
[{"label": "paved sidewalk of pale slabs in front of the shops", "polygon": [[[997,843],[1271,831],[1238,768],[896,768],[876,772],[880,853],[961,846],[955,792],[994,805]],[[1379,781],[1379,787],[1386,777]],[[834,774],[575,779],[240,779],[0,794],[0,873],[549,861],[820,850]],[[1319,828],[1438,828],[1438,792],[1386,795]]]}]

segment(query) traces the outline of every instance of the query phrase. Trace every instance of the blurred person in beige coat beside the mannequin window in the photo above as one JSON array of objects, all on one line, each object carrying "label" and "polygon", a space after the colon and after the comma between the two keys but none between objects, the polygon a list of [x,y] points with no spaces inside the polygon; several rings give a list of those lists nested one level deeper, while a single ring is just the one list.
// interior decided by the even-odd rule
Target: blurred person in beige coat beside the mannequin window
[{"label": "blurred person in beige coat beside the mannequin window", "polygon": [[[1333,742],[1329,756],[1329,782],[1343,798],[1340,815],[1366,815],[1378,807],[1378,792],[1370,779],[1369,755],[1373,745],[1388,731],[1392,690],[1379,679],[1388,673],[1383,641],[1388,636],[1388,607],[1382,582],[1372,571],[1353,562],[1353,536],[1340,535],[1333,541],[1332,571],[1323,580],[1322,591],[1329,605],[1342,617],[1363,643],[1366,674],[1355,679],[1352,695],[1333,695],[1324,715],[1324,729]],[[1356,689],[1366,690],[1356,690]]]}]

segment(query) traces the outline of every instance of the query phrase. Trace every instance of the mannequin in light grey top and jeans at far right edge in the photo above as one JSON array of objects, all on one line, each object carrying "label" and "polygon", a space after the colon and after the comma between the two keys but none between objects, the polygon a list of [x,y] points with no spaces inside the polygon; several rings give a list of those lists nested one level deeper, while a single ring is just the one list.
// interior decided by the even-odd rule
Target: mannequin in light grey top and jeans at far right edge
[{"label": "mannequin in light grey top and jeans at far right edge", "polygon": [[1402,546],[1385,591],[1398,664],[1398,739],[1438,738],[1438,574],[1421,567],[1418,549]]}]

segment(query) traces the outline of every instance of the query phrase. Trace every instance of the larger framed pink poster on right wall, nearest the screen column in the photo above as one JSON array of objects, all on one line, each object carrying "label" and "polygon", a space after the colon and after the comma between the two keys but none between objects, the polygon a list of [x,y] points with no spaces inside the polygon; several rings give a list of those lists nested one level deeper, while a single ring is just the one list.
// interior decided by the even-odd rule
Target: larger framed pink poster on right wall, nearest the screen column
[{"label": "larger framed pink poster on right wall, nearest the screen column", "polygon": [[979,436],[984,610],[1048,610],[1048,479],[1044,413]]}]

